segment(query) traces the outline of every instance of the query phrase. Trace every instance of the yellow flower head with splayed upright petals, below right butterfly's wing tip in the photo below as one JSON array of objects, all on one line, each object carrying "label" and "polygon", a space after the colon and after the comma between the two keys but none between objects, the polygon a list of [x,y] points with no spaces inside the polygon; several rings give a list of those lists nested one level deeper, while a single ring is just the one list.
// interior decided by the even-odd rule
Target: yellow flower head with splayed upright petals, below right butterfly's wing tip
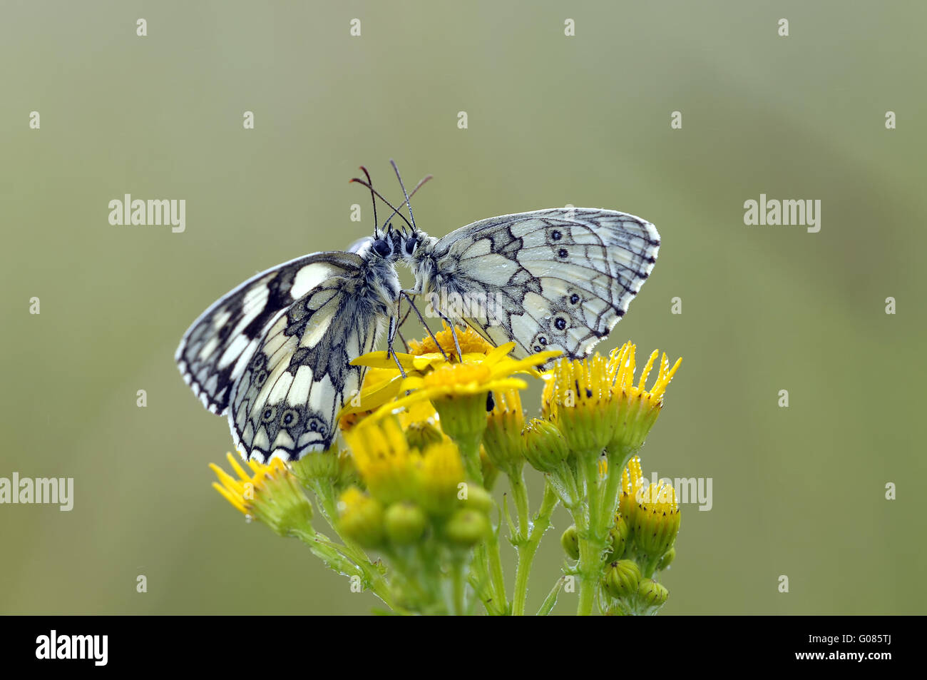
[{"label": "yellow flower head with splayed upright petals, below right butterfly's wing tip", "polygon": [[613,350],[607,367],[612,395],[618,404],[616,428],[610,445],[629,451],[641,448],[648,432],[654,427],[654,422],[663,408],[663,397],[667,391],[667,385],[682,363],[681,358],[677,359],[673,367],[669,368],[667,354],[664,353],[660,359],[654,385],[648,391],[644,383],[660,353],[659,350],[654,350],[654,353],[650,355],[650,359],[641,371],[641,379],[635,386],[635,349],[635,345],[626,342]]}]

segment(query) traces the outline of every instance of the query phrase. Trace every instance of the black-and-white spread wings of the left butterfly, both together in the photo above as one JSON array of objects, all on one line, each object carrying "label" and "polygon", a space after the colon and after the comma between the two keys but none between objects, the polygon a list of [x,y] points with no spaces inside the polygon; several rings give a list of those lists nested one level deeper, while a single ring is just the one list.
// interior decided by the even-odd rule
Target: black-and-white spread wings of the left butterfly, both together
[{"label": "black-and-white spread wings of the left butterfly, both together", "polygon": [[211,412],[228,415],[244,457],[293,460],[332,442],[363,377],[382,311],[354,253],[307,255],[254,276],[187,330],[175,358]]}]

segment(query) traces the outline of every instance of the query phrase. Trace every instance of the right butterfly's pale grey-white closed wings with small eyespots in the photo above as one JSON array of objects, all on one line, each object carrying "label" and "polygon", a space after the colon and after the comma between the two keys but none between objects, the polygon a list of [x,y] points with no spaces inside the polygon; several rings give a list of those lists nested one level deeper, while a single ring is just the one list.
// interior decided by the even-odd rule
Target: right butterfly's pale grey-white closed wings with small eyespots
[{"label": "right butterfly's pale grey-white closed wings with small eyespots", "polygon": [[[445,314],[490,342],[514,340],[518,356],[560,349],[579,358],[628,311],[659,248],[656,227],[625,212],[557,208],[503,215],[426,248],[434,264],[419,268],[431,279],[420,290],[436,293],[432,299]],[[474,314],[482,300],[486,313]],[[454,314],[459,301],[462,313]]]}]

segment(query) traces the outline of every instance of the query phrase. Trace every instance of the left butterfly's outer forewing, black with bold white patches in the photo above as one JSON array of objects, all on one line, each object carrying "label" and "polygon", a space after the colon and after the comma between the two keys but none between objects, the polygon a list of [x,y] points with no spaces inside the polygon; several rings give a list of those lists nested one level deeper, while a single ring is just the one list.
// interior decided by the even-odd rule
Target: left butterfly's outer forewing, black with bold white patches
[{"label": "left butterfly's outer forewing, black with bold white patches", "polygon": [[184,381],[212,413],[225,415],[235,382],[277,316],[326,279],[360,265],[357,255],[317,252],[252,276],[184,334],[174,354]]}]

